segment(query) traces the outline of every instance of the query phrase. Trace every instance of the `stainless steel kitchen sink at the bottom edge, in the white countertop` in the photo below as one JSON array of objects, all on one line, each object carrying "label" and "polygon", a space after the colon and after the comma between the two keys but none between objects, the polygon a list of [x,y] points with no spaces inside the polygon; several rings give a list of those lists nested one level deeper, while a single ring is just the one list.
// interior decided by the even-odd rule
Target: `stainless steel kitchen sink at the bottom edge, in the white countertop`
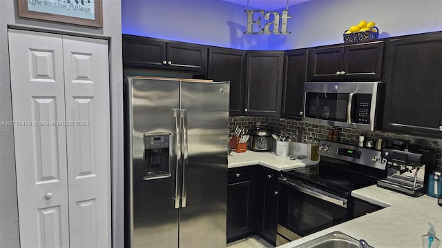
[{"label": "stainless steel kitchen sink at the bottom edge, in the white countertop", "polygon": [[340,231],[334,231],[294,248],[359,248],[359,240]]}]

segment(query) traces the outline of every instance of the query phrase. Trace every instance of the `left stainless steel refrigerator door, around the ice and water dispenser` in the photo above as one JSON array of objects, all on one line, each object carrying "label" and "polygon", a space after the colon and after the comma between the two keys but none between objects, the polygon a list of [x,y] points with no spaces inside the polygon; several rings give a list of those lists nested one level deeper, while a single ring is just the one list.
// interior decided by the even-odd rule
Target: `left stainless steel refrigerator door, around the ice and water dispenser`
[{"label": "left stainless steel refrigerator door, around the ice and water dispenser", "polygon": [[[178,247],[179,209],[175,208],[177,167],[177,134],[175,118],[179,108],[180,81],[129,78],[126,87],[126,132],[131,159],[130,208],[132,247]],[[146,163],[153,159],[144,151],[145,134],[171,134],[169,167],[172,174],[166,178],[145,180]],[[158,163],[158,161],[152,161]],[[126,165],[127,166],[127,165]],[[127,207],[127,206],[126,206]],[[131,209],[131,210],[130,210]]]}]

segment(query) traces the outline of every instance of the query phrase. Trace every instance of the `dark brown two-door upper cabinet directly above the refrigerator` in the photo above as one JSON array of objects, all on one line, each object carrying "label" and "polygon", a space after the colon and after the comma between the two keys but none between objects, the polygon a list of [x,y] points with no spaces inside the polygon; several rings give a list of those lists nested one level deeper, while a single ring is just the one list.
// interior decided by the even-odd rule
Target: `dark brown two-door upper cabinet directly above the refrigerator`
[{"label": "dark brown two-door upper cabinet directly above the refrigerator", "polygon": [[123,65],[133,68],[206,72],[207,47],[123,34]]}]

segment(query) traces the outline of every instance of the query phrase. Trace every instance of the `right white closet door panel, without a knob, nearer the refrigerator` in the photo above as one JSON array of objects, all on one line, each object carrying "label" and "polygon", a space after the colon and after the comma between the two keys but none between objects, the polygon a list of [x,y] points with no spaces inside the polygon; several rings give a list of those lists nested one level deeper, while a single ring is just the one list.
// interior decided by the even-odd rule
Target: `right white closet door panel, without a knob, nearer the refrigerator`
[{"label": "right white closet door panel, without a knob, nearer the refrigerator", "polygon": [[108,42],[64,36],[70,245],[111,247]]}]

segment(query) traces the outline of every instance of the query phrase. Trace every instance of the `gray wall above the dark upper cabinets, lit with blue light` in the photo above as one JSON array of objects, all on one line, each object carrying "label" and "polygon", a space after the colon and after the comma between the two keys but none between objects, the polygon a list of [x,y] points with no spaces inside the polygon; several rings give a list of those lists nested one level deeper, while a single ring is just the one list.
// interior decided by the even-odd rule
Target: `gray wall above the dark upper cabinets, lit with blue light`
[{"label": "gray wall above the dark upper cabinets, lit with blue light", "polygon": [[344,31],[361,19],[375,21],[380,38],[442,30],[441,0],[311,0],[289,7],[293,18],[287,35],[243,34],[249,9],[219,0],[122,0],[122,32],[244,50],[289,50],[343,43]]}]

